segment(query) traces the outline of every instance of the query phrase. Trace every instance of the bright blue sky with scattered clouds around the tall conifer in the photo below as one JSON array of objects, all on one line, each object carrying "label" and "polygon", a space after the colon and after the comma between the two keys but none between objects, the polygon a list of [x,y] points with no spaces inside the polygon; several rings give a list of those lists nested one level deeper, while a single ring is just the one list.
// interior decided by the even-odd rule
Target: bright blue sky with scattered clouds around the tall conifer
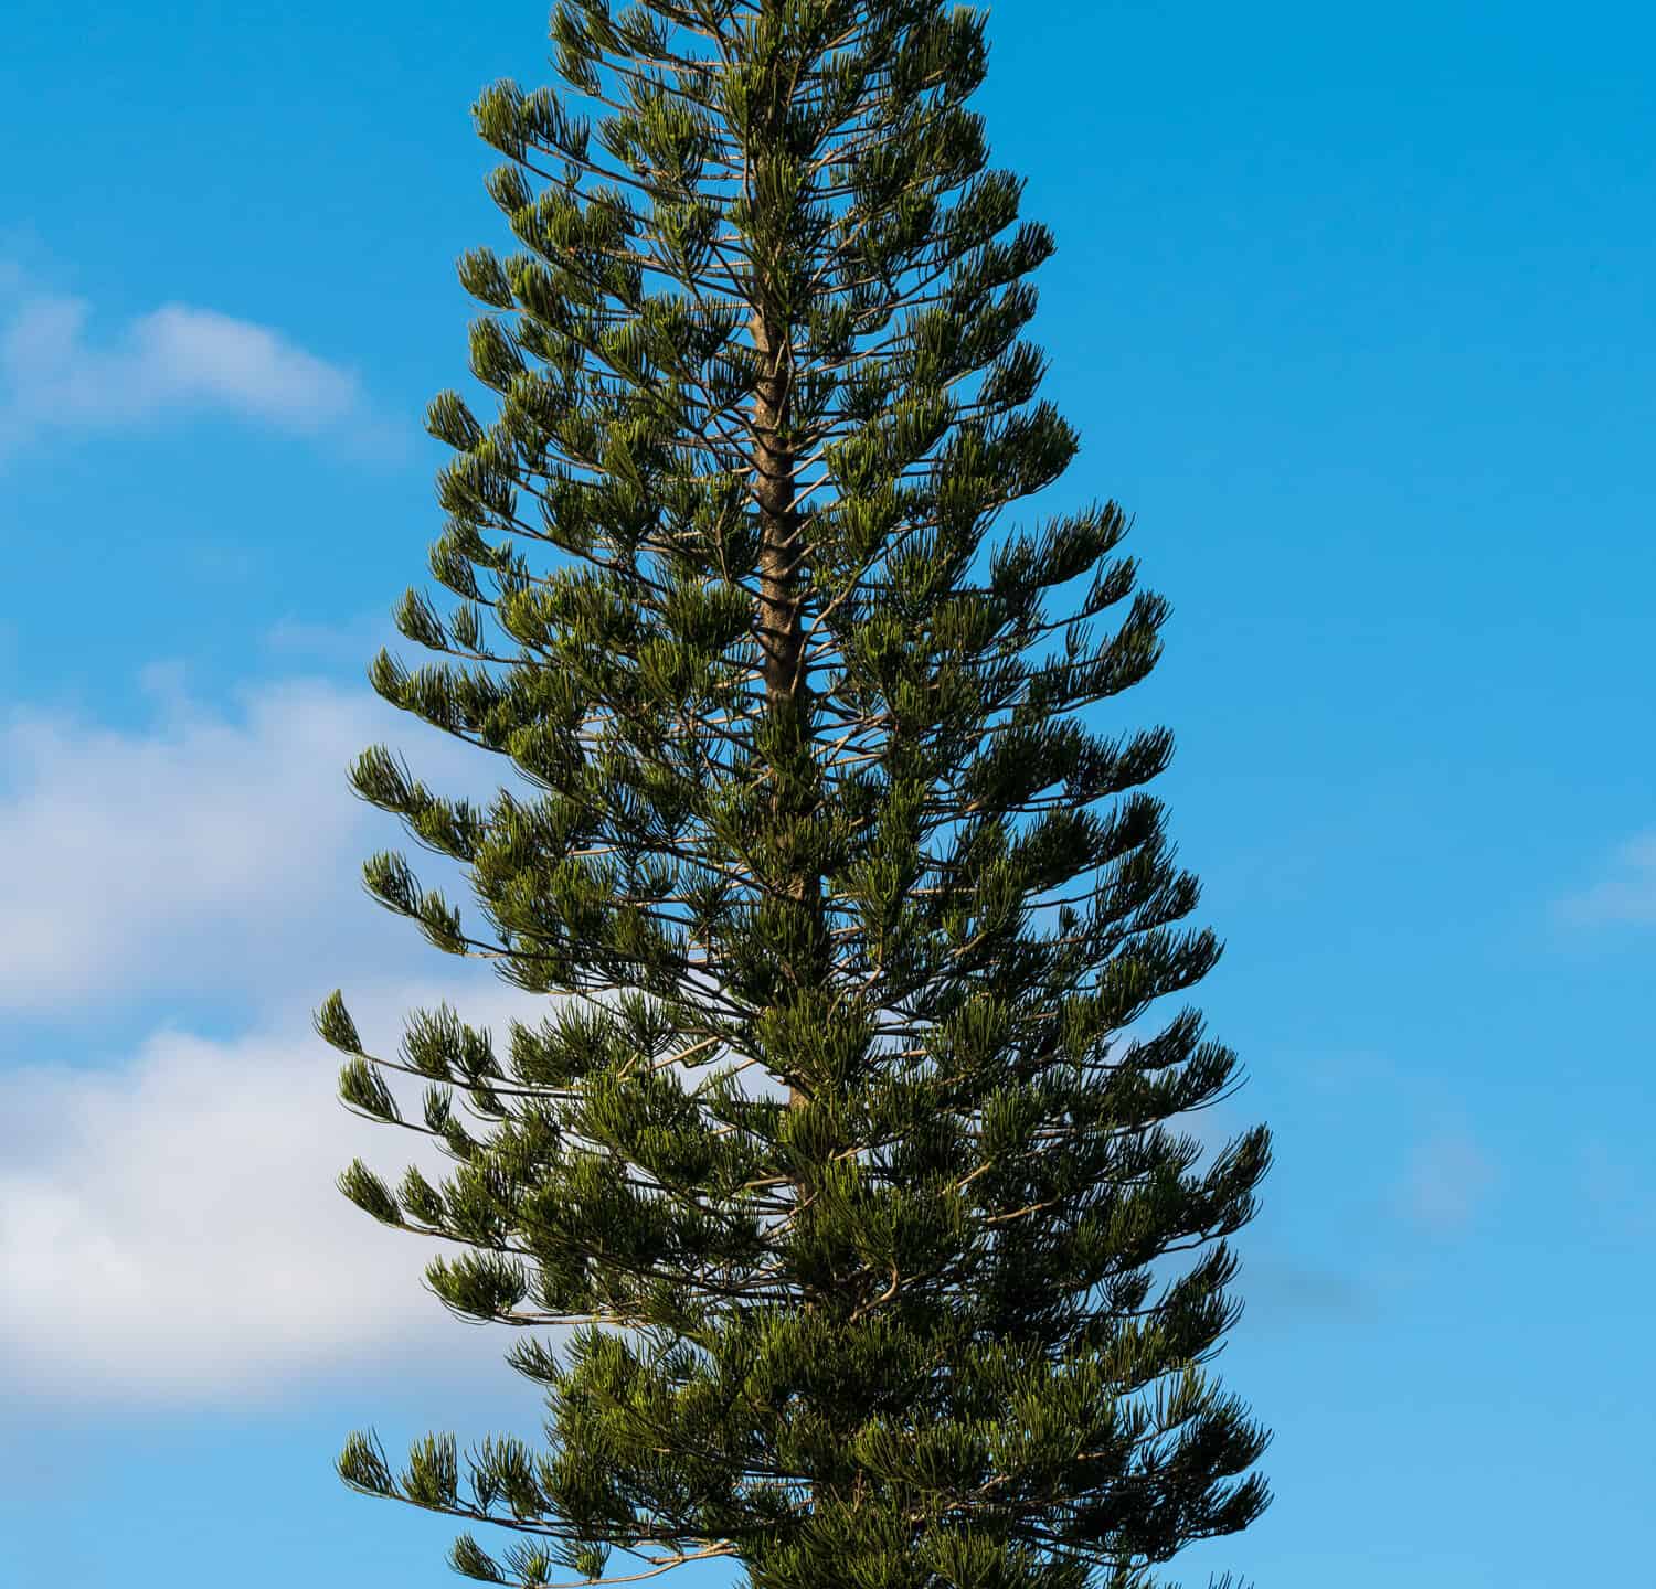
[{"label": "bright blue sky with scattered clouds around the tall conifer", "polygon": [[[1174,602],[1134,692],[1277,1169],[1222,1359],[1260,1589],[1648,1558],[1656,26],[1510,0],[994,8],[1037,334]],[[381,920],[341,768],[437,530],[537,3],[30,7],[0,94],[0,1584],[450,1581],[346,1430],[532,1432],[331,1188],[369,1035],[489,982]],[[1639,970],[1644,967],[1644,972]],[[699,1579],[687,1579],[699,1581]]]}]

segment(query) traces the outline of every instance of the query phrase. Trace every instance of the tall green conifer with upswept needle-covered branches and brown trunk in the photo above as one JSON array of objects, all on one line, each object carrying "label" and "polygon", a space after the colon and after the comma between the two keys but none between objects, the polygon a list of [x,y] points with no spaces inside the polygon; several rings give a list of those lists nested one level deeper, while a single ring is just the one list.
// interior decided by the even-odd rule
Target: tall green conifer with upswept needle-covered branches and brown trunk
[{"label": "tall green conifer with upswept needle-covered branches and brown trunk", "polygon": [[517,248],[460,262],[493,419],[429,414],[455,601],[373,669],[507,786],[353,770],[477,914],[401,856],[371,894],[548,1013],[416,1013],[394,1059],[318,1013],[346,1102],[454,1160],[346,1193],[523,1327],[546,1442],[341,1473],[503,1524],[452,1553],[495,1584],[1149,1584],[1268,1500],[1204,1372],[1268,1135],[1199,1174],[1167,1122],[1235,1056],[1141,1021],[1219,953],[1143,791],[1167,733],[1095,727],[1167,609],[1114,505],[1000,523],[1076,440],[1020,336],[1052,238],[967,109],[984,17],[560,0],[551,36],[561,91],[475,106]]}]

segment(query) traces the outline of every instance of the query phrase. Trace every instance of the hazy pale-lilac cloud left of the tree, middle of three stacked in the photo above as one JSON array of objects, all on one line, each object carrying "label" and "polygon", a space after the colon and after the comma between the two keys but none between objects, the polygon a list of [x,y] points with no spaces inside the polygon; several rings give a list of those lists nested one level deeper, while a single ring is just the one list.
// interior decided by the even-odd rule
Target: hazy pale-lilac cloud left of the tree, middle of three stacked
[{"label": "hazy pale-lilac cloud left of the tree, middle of three stacked", "polygon": [[144,732],[40,710],[0,723],[0,1010],[238,991],[272,962],[291,975],[282,952],[328,905],[376,915],[358,862],[397,831],[364,823],[344,768],[384,735],[378,702],[291,680],[224,717],[176,674],[151,682],[162,720]]}]

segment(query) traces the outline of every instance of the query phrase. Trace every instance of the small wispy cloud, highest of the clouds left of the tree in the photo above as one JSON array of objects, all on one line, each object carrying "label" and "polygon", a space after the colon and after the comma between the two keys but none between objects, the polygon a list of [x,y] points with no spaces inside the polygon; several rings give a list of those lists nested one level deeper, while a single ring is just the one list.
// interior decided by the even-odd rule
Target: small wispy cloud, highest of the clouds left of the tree
[{"label": "small wispy cloud, highest of the clouds left of the tree", "polygon": [[0,275],[0,452],[50,429],[134,425],[224,412],[318,434],[374,429],[358,377],[280,331],[167,303],[113,334],[81,298]]}]

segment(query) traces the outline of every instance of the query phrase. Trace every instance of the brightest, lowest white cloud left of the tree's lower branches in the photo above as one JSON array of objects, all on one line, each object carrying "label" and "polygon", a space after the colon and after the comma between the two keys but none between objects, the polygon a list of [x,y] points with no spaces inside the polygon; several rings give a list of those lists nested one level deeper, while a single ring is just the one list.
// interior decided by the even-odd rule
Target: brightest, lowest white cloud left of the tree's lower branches
[{"label": "brightest, lowest white cloud left of the tree's lower branches", "polygon": [[[353,1011],[389,1049],[401,1013],[439,996],[383,988]],[[497,1033],[527,1005],[452,1001]],[[0,1390],[240,1400],[411,1354],[498,1359],[498,1331],[424,1289],[434,1248],[335,1188],[358,1155],[391,1175],[444,1162],[348,1114],[335,1061],[293,1013],[233,1041],[157,1033],[111,1071],[0,1071]]]}]

